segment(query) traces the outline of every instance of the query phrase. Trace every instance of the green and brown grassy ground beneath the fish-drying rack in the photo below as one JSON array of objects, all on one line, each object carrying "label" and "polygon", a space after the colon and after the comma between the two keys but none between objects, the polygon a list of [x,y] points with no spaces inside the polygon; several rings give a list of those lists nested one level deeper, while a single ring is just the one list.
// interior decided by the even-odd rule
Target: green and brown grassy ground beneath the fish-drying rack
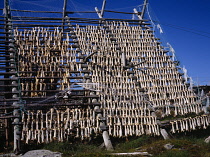
[{"label": "green and brown grassy ground beneath the fish-drying rack", "polygon": [[[207,130],[196,130],[192,132],[173,135],[169,140],[162,137],[127,137],[111,138],[115,150],[113,152],[136,152],[144,151],[154,157],[210,157],[210,144],[204,139],[210,135],[210,128]],[[52,142],[49,144],[30,143],[24,145],[24,150],[48,149],[54,152],[63,153],[64,157],[110,157],[110,152],[100,149],[103,142],[102,137],[93,138],[91,141],[72,140],[68,142]],[[174,145],[171,150],[166,150],[164,145]]]}]

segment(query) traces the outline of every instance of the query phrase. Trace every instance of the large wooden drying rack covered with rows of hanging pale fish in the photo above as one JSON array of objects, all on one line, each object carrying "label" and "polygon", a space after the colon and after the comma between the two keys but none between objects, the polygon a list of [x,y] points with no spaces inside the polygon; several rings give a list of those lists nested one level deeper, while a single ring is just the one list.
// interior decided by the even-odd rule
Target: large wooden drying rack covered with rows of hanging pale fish
[{"label": "large wooden drying rack covered with rows of hanging pale fish", "polygon": [[[102,132],[112,149],[109,136],[160,135],[157,118],[169,115],[198,115],[172,121],[172,133],[209,125],[177,61],[144,19],[147,1],[142,12],[134,13],[105,10],[105,2],[102,12],[83,12],[97,13],[99,19],[69,17],[75,12],[66,11],[66,0],[63,12],[45,11],[60,18],[20,19],[11,12],[36,11],[12,10],[5,0],[0,109],[6,114],[0,118],[14,119],[17,153],[20,138],[48,143]],[[104,12],[139,19],[105,19]]]}]

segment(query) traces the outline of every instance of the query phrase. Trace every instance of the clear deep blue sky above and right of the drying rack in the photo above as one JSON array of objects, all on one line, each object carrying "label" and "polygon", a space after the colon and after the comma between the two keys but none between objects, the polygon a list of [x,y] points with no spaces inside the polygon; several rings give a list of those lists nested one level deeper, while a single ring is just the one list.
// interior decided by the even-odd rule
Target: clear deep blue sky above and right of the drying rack
[{"label": "clear deep blue sky above and right of the drying rack", "polygon": [[[14,9],[62,11],[63,0],[10,0],[10,4]],[[142,4],[143,0],[107,0],[106,9],[133,12]],[[67,10],[94,11],[101,5],[102,0],[68,0]],[[163,29],[161,41],[172,45],[195,84],[210,85],[210,0],[149,0],[149,12]],[[97,18],[96,14],[76,16]],[[132,15],[105,13],[104,17],[131,19]]]}]

